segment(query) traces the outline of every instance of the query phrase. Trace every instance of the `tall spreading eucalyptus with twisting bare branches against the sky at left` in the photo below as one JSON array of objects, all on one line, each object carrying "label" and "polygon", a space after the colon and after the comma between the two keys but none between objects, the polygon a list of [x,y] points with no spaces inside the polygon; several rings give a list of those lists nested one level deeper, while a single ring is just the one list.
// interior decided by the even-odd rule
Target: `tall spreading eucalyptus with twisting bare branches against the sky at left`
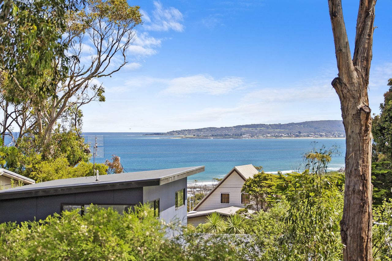
[{"label": "tall spreading eucalyptus with twisting bare branches against the sky at left", "polygon": [[[91,101],[105,101],[104,89],[96,79],[111,76],[127,63],[133,29],[142,23],[139,8],[129,6],[125,0],[88,0],[85,9],[67,12],[64,34],[58,38],[62,45],[69,46],[67,77],[55,82],[54,93],[42,93],[40,90],[49,87],[55,71],[45,70],[23,92],[10,74],[3,74],[2,135],[12,136],[12,126],[16,125],[18,137],[34,132],[44,144],[50,140],[59,120],[68,119],[72,127],[78,128],[80,107]],[[52,62],[59,64],[62,58],[55,56]],[[17,146],[17,139],[12,138]]]}]

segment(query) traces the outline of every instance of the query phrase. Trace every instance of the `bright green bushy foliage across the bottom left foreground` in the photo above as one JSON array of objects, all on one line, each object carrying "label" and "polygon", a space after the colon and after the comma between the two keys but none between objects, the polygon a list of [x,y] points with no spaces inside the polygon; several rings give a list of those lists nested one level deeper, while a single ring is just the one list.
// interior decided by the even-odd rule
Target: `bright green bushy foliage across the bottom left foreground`
[{"label": "bright green bushy foliage across the bottom left foreground", "polygon": [[[167,237],[167,229],[177,236]],[[230,238],[204,238],[156,219],[148,207],[122,214],[88,207],[45,220],[0,224],[2,260],[241,260]]]}]

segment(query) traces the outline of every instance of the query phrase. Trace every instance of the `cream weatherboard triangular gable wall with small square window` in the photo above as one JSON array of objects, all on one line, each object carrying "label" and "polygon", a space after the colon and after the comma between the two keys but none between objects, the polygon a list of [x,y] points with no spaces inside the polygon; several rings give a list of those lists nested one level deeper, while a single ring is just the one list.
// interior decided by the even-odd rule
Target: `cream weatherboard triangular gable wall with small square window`
[{"label": "cream weatherboard triangular gable wall with small square window", "polygon": [[[244,180],[234,170],[232,174],[221,185],[208,196],[207,199],[196,209],[197,211],[210,210],[216,208],[225,208],[231,206],[244,207],[241,204],[241,188],[244,184]],[[230,193],[230,204],[220,203],[220,193]],[[211,193],[211,192],[210,192]]]}]

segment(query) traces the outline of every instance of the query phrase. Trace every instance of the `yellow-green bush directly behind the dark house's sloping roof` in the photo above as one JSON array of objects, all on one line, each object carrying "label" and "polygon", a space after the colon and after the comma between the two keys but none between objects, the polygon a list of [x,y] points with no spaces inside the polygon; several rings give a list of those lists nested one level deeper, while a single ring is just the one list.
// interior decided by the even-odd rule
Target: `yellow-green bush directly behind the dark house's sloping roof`
[{"label": "yellow-green bush directly behind the dark house's sloping roof", "polygon": [[[107,166],[95,164],[95,169],[100,175],[105,175]],[[93,163],[81,161],[76,167],[70,167],[66,158],[57,158],[50,161],[41,161],[31,166],[30,178],[36,182],[49,181],[53,179],[78,178],[93,176]]]}]

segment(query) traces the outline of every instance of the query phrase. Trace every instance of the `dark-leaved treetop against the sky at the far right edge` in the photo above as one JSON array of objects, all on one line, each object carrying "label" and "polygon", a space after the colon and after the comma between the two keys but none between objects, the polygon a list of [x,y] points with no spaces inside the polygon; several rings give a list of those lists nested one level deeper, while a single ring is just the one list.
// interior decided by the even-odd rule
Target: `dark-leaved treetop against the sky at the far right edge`
[{"label": "dark-leaved treetop against the sky at the far right edge", "polygon": [[388,80],[388,86],[384,103],[380,104],[381,113],[372,121],[372,161],[392,161],[392,78]]}]

